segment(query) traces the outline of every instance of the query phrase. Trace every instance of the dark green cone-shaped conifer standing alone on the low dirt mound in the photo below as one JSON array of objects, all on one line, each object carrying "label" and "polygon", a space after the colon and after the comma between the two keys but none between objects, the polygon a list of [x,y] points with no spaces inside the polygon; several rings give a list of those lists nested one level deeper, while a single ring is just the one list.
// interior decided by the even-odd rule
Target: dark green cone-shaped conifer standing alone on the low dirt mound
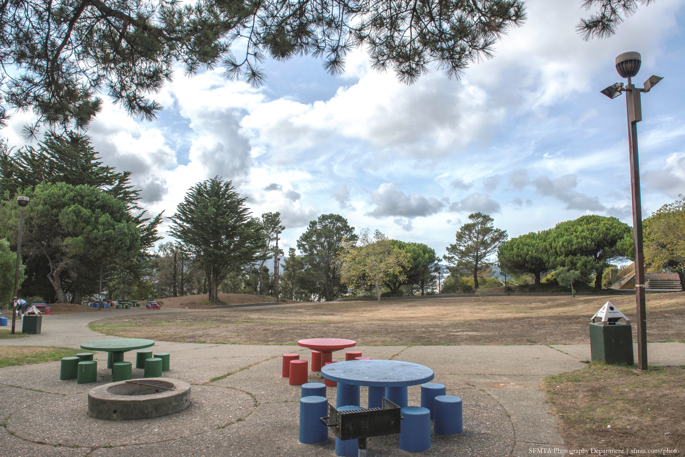
[{"label": "dark green cone-shaped conifer standing alone on the low dirt mound", "polygon": [[170,218],[169,233],[188,247],[205,270],[209,298],[215,304],[221,282],[256,263],[264,244],[260,223],[245,206],[247,198],[234,189],[231,181],[219,177],[197,183]]}]

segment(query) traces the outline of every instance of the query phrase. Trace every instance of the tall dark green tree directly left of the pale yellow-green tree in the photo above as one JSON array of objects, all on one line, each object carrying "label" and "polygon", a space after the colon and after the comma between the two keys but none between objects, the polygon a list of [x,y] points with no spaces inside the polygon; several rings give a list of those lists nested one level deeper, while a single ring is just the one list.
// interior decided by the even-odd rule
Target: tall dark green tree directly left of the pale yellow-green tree
[{"label": "tall dark green tree directly left of the pale yellow-green tree", "polygon": [[347,290],[340,283],[335,259],[345,241],[353,244],[356,240],[354,227],[339,214],[322,214],[309,223],[297,239],[297,248],[305,256],[307,267],[303,281],[312,293],[329,302]]}]

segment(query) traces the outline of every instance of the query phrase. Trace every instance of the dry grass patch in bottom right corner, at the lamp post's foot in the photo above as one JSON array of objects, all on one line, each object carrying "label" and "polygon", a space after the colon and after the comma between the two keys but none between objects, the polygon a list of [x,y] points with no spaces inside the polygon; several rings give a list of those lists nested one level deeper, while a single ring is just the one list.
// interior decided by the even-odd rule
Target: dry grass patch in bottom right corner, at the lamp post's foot
[{"label": "dry grass patch in bottom right corner, at the lamp post's foot", "polygon": [[568,449],[627,448],[627,455],[645,455],[632,449],[669,448],[682,453],[685,367],[651,368],[639,371],[593,363],[546,378],[543,389],[560,419],[564,445]]}]

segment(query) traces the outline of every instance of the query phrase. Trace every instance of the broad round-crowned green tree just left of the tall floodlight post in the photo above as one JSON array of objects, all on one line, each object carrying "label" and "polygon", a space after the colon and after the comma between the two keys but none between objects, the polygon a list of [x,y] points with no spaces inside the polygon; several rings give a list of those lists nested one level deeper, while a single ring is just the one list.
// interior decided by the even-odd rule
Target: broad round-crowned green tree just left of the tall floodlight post
[{"label": "broad round-crowned green tree just left of the tall floodlight post", "polygon": [[556,224],[547,242],[556,266],[578,270],[584,276],[594,271],[595,289],[601,289],[604,268],[627,256],[624,239],[630,237],[628,224],[593,214]]}]

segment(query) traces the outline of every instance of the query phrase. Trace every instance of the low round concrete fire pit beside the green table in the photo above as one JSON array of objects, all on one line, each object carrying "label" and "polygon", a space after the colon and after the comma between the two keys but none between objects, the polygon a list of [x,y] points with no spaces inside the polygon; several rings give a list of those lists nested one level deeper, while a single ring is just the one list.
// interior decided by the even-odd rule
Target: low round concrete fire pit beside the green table
[{"label": "low round concrete fire pit beside the green table", "polygon": [[[145,378],[110,382],[88,392],[88,415],[95,419],[122,421],[148,419],[178,413],[190,406],[190,384],[172,378]],[[173,384],[173,390],[136,382]],[[161,381],[161,382],[160,382]]]}]

